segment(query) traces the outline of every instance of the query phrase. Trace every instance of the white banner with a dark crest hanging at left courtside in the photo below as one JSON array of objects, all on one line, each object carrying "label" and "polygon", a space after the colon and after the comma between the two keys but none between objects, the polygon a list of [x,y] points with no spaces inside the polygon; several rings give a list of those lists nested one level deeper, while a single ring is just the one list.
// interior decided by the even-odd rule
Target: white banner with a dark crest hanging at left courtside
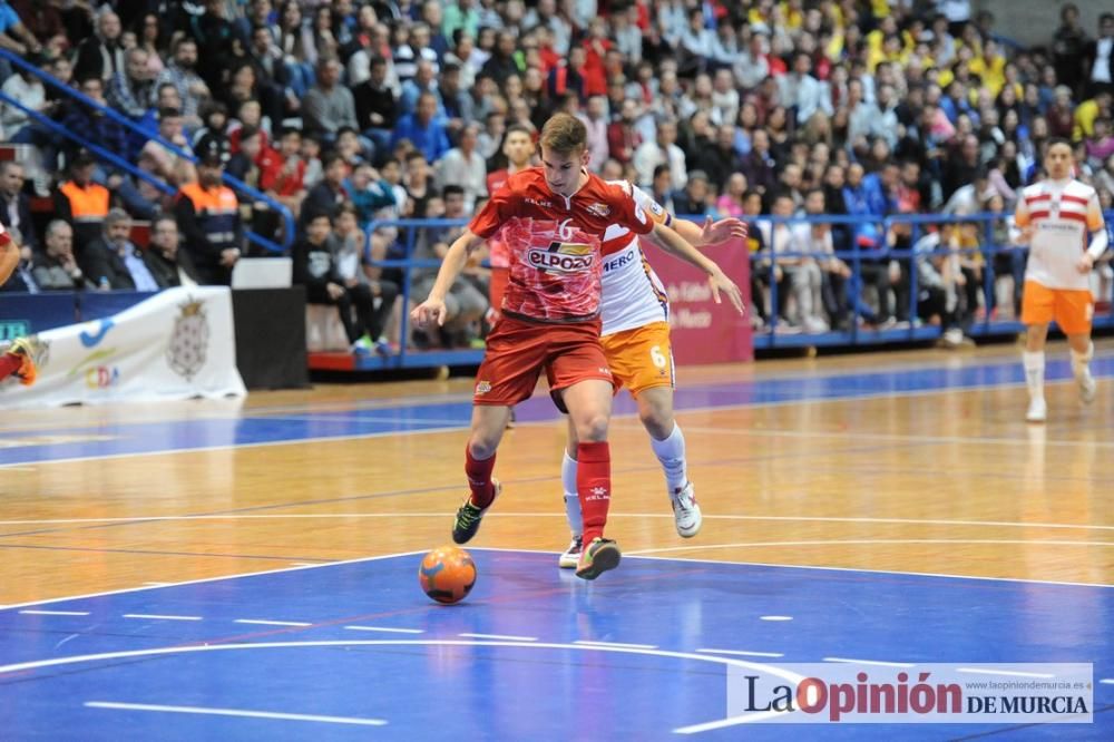
[{"label": "white banner with a dark crest hanging at left courtside", "polygon": [[31,336],[38,380],[0,382],[0,408],[243,397],[232,291],[168,289],[118,314]]}]

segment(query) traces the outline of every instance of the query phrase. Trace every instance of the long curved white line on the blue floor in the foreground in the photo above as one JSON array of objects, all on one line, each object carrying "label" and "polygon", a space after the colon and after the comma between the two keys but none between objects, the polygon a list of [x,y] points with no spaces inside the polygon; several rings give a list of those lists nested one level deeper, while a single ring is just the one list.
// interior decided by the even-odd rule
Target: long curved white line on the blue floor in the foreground
[{"label": "long curved white line on the blue floor in the foreground", "polygon": [[[616,652],[623,654],[643,654],[655,657],[695,660],[697,662],[712,662],[725,666],[742,667],[744,670],[759,671],[769,673],[771,675],[776,675],[778,677],[782,677],[793,684],[798,684],[804,680],[803,675],[799,675],[798,673],[784,670],[782,667],[776,667],[773,665],[764,665],[756,662],[747,662],[746,660],[719,657],[712,654],[671,652],[668,650],[642,648],[642,647],[620,646],[613,644],[560,644],[560,643],[549,643],[549,642],[527,643],[527,642],[496,642],[496,641],[466,641],[466,640],[341,640],[341,641],[331,640],[331,641],[317,641],[317,642],[258,642],[250,644],[211,644],[211,645],[194,644],[187,646],[169,646],[169,647],[156,647],[147,650],[127,650],[123,652],[102,652],[99,654],[84,654],[69,657],[53,657],[50,660],[35,660],[31,662],[20,662],[11,665],[0,666],[0,675],[23,672],[28,670],[41,670],[43,667],[58,667],[63,665],[75,665],[88,662],[124,660],[129,657],[154,657],[160,655],[187,654],[195,652],[232,652],[232,651],[243,651],[243,650],[285,650],[285,648],[311,648],[311,647],[330,647],[330,646],[430,646],[430,645],[497,646],[497,647],[516,647],[516,648],[528,647],[531,650],[534,648],[574,650],[582,652]],[[747,714],[745,716],[721,719],[713,722],[706,722],[704,724],[681,726],[673,731],[677,734],[692,734],[695,732],[703,732],[713,729],[722,729],[724,726],[734,726],[735,724],[754,722],[761,719],[781,715],[783,713],[785,712],[781,711],[759,712],[754,714]]]}]

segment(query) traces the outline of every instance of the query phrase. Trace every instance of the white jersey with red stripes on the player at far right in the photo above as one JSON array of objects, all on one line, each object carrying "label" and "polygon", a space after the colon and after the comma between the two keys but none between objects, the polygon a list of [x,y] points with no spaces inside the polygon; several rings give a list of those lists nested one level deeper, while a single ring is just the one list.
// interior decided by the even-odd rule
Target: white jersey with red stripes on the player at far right
[{"label": "white jersey with red stripes on the player at far right", "polygon": [[1026,281],[1046,289],[1091,289],[1089,276],[1076,264],[1091,233],[1105,228],[1094,188],[1074,178],[1030,185],[1017,201],[1016,221],[1033,227]]}]

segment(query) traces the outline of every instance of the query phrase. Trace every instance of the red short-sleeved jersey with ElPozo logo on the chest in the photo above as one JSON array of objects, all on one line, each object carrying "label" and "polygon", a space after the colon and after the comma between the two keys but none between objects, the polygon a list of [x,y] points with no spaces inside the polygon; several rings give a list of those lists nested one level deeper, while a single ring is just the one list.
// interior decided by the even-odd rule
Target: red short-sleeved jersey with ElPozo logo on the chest
[{"label": "red short-sleeved jersey with ElPozo logo on the chest", "polygon": [[589,173],[571,197],[555,194],[544,168],[511,175],[468,228],[488,240],[499,235],[510,253],[510,281],[502,310],[541,322],[576,322],[599,314],[603,237],[608,226],[635,234],[654,228],[620,184]]}]

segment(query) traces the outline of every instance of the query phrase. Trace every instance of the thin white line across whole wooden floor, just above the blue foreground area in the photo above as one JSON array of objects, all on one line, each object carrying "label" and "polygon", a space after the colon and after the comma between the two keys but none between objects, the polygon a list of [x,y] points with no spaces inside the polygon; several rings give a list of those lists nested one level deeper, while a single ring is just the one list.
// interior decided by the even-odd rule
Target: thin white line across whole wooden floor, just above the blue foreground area
[{"label": "thin white line across whole wooden floor, just above the blue foreground area", "polygon": [[[296,507],[291,506],[275,507]],[[48,525],[71,525],[71,524],[95,524],[95,523],[164,523],[173,520],[253,520],[253,519],[323,519],[323,518],[451,518],[452,512],[273,512],[273,514],[214,514],[214,515],[185,515],[185,516],[133,516],[120,518],[43,518],[39,520],[0,520],[0,526],[48,526]],[[564,512],[488,512],[490,518],[564,518]],[[668,512],[608,512],[608,518],[670,518]],[[1062,528],[1076,530],[1114,530],[1114,526],[1097,526],[1088,524],[1072,523],[1022,523],[1016,520],[947,520],[941,518],[857,518],[842,516],[754,516],[754,515],[731,515],[731,514],[705,514],[705,520],[784,520],[788,523],[851,523],[851,524],[886,524],[886,525],[910,525],[910,526],[973,526],[984,528],[996,526],[1001,528]],[[0,534],[2,538],[4,534]],[[294,562],[294,566],[310,563]],[[320,565],[315,565],[320,566]]]}]

